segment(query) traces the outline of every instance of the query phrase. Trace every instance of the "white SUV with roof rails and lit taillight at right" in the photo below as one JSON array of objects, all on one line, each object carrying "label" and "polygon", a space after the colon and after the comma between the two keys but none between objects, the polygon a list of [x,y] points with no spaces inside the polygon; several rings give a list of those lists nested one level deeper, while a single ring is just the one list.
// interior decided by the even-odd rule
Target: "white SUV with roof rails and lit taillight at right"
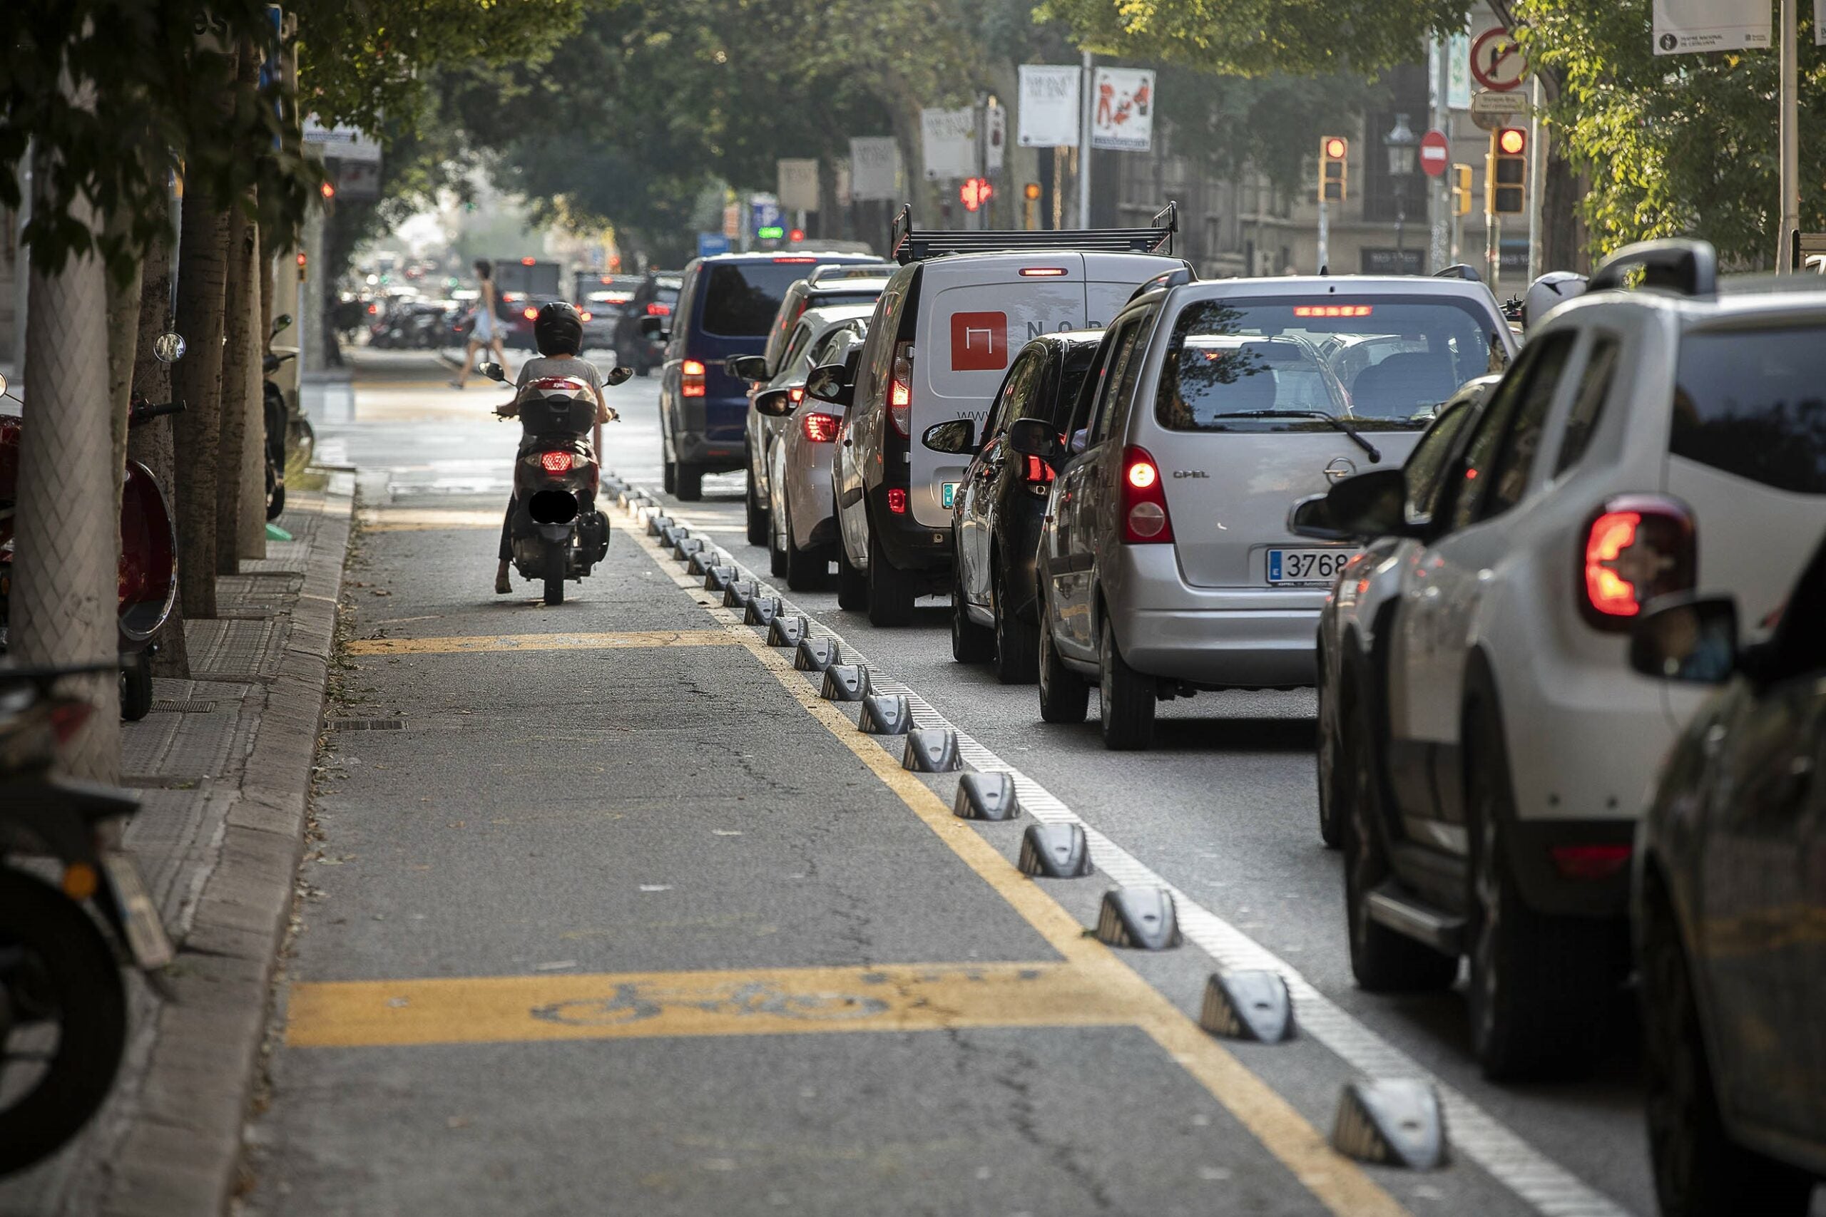
[{"label": "white SUV with roof rails and lit taillight at right", "polygon": [[1704,243],[1620,252],[1528,334],[1430,520],[1395,471],[1295,516],[1421,542],[1338,673],[1351,967],[1444,987],[1470,956],[1495,1078],[1590,1064],[1627,967],[1636,817],[1700,699],[1631,670],[1629,626],[1687,589],[1764,620],[1826,527],[1826,290],[1737,286]]}]

